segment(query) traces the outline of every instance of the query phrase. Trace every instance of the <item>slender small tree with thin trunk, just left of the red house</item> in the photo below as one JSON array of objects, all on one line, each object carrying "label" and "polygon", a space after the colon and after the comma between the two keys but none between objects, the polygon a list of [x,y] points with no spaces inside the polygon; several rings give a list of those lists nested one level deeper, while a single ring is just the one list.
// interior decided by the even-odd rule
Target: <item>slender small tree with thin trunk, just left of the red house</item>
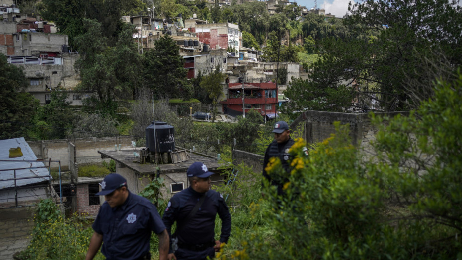
[{"label": "slender small tree with thin trunk, just left of the red house", "polygon": [[201,88],[209,94],[209,98],[212,100],[212,122],[215,122],[217,104],[223,95],[222,82],[224,79],[225,74],[220,71],[220,65],[217,65],[214,70],[202,77],[202,81],[200,83]]}]

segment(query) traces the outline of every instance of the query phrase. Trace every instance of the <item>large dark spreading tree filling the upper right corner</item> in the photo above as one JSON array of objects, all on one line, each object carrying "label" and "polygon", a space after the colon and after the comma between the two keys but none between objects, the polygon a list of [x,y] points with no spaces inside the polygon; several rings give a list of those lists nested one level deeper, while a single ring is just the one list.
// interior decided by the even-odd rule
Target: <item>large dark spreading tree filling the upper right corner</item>
[{"label": "large dark spreading tree filling the upper right corner", "polygon": [[[448,1],[366,0],[350,10],[344,19],[346,38],[318,41],[311,34],[321,57],[307,68],[312,81],[304,83],[312,92],[332,93],[327,105],[337,111],[409,109],[404,86],[420,78],[426,57],[435,64],[449,61],[452,70],[461,64],[462,11]],[[423,85],[431,85],[428,80]],[[338,90],[349,90],[349,101],[337,99]],[[294,107],[310,109],[296,91],[288,93]]]}]

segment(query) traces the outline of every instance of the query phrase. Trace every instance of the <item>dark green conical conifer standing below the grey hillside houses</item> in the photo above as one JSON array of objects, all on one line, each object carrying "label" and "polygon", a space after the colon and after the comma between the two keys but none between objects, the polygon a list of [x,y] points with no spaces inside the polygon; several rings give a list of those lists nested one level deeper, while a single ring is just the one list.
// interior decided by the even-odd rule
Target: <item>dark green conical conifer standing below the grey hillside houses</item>
[{"label": "dark green conical conifer standing below the grey hillside houses", "polygon": [[154,45],[154,50],[143,53],[144,86],[152,89],[156,98],[190,98],[192,89],[176,42],[163,35]]}]

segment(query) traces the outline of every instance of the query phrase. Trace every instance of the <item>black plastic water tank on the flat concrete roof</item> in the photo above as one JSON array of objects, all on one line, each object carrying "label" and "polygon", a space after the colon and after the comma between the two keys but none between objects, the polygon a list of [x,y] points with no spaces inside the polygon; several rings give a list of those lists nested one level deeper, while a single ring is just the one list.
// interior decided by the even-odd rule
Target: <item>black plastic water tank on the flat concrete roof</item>
[{"label": "black plastic water tank on the flat concrete roof", "polygon": [[[157,140],[154,143],[154,131],[155,139]],[[148,147],[151,152],[160,152],[165,153],[168,151],[175,150],[175,139],[173,137],[175,133],[175,128],[165,122],[155,121],[146,127],[146,147]],[[156,148],[157,145],[157,148]]]}]

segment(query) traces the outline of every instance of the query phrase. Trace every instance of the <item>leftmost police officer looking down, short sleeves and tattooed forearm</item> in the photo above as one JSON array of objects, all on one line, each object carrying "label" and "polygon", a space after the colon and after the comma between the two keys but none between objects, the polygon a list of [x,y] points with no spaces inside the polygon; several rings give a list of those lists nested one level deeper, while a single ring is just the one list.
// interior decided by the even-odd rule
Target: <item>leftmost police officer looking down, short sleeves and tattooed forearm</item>
[{"label": "leftmost police officer looking down, short sleeves and tattooed forearm", "polygon": [[168,255],[168,233],[157,208],[146,198],[132,194],[127,180],[119,174],[107,175],[99,184],[106,201],[93,223],[93,236],[85,260],[92,260],[103,243],[107,260],[149,260],[151,232],[159,237],[160,260]]}]

